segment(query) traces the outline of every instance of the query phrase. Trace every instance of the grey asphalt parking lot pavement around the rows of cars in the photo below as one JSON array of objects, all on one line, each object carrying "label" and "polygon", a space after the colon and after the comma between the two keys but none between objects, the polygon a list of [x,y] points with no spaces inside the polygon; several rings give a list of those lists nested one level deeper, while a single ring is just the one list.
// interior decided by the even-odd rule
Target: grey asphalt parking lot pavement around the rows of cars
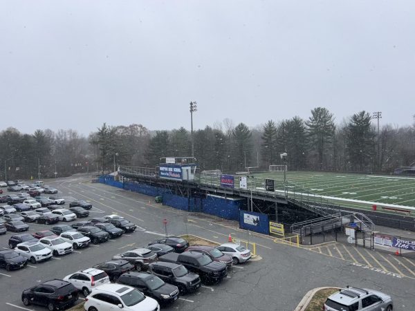
[{"label": "grey asphalt parking lot pavement around the rows of cars", "polygon": [[[93,184],[86,176],[50,180],[47,184],[56,187],[59,195],[66,199],[64,207],[74,199],[86,200],[93,205],[89,218],[119,214],[136,223],[138,228],[131,234],[86,249],[75,249],[72,254],[53,257],[45,263],[29,263],[22,270],[0,270],[0,310],[44,310],[33,305],[25,307],[21,303],[21,291],[48,279],[62,279],[128,249],[145,246],[165,236],[166,229],[168,234],[194,234],[218,243],[227,242],[229,234],[249,239],[257,243],[261,260],[235,265],[223,282],[203,285],[198,292],[181,296],[164,310],[292,311],[308,290],[330,285],[382,290],[394,298],[394,310],[413,310],[415,305],[414,279],[365,269],[319,252],[276,244],[268,238],[248,235],[232,222],[192,217],[185,211],[156,204],[149,196]],[[167,220],[166,227],[164,219]],[[48,227],[30,224],[29,233]],[[8,249],[8,238],[12,234],[0,236],[0,247]],[[80,297],[83,298],[82,294]]]}]

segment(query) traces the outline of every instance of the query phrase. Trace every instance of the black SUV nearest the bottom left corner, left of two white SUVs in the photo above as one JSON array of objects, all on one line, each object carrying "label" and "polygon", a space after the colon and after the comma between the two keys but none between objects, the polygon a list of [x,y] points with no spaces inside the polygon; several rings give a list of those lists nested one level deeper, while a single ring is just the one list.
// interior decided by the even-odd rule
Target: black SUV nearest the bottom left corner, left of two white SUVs
[{"label": "black SUV nearest the bottom left corner, left of two white SUVs", "polygon": [[54,279],[28,288],[21,293],[24,305],[42,305],[48,310],[64,310],[78,299],[77,289],[69,282]]}]

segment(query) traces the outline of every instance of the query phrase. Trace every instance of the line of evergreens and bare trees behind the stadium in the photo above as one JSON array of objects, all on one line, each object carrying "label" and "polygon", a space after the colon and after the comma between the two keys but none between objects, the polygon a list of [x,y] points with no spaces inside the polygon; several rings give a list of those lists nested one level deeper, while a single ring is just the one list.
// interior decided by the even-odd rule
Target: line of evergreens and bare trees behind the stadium
[{"label": "line of evergreens and bare trees behind the stadium", "polygon": [[[287,164],[290,170],[390,173],[415,161],[415,126],[386,124],[378,131],[367,111],[336,124],[333,113],[323,107],[313,109],[307,120],[268,120],[251,129],[225,119],[194,131],[193,141],[201,170],[268,170],[270,164]],[[3,179],[5,174],[13,179],[110,172],[114,164],[156,167],[162,157],[191,152],[192,136],[183,127],[149,131],[141,124],[103,124],[88,137],[74,130],[0,132]],[[284,152],[286,162],[280,158]]]}]

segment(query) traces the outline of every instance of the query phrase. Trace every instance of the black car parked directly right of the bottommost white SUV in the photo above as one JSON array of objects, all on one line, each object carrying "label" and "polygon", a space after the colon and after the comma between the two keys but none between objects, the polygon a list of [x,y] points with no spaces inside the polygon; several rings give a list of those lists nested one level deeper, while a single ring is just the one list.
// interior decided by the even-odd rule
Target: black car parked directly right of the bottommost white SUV
[{"label": "black car parked directly right of the bottommost white SUV", "polygon": [[154,274],[126,272],[120,275],[117,283],[136,288],[146,296],[156,299],[160,305],[173,303],[179,296],[177,286],[165,283],[165,281]]}]

